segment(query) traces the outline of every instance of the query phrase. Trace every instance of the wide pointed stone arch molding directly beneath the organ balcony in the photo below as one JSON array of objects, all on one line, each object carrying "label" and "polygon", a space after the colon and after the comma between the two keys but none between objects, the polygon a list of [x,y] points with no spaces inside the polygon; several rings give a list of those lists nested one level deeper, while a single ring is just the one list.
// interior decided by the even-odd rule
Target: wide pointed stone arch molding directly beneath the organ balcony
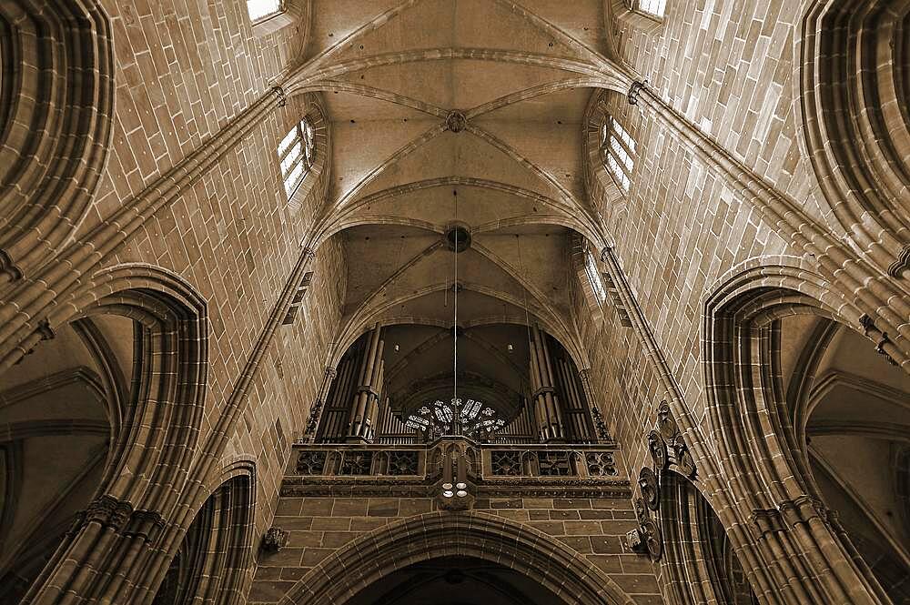
[{"label": "wide pointed stone arch molding directly beneath the organ balcony", "polygon": [[375,529],[329,555],[279,605],[343,603],[403,565],[447,556],[496,561],[571,603],[634,602],[591,562],[537,529],[487,513],[429,512]]}]

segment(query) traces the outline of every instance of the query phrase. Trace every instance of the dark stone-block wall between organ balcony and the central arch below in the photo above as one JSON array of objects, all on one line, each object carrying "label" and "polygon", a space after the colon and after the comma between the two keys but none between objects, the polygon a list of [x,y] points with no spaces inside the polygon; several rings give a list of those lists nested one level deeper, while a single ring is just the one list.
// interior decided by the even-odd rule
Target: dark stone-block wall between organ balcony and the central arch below
[{"label": "dark stone-block wall between organ balcony and the central arch below", "polygon": [[[249,602],[280,600],[308,570],[351,540],[434,509],[430,498],[282,497],[274,524],[289,532],[288,544],[277,553],[259,554]],[[625,533],[638,527],[629,499],[480,497],[474,509],[560,540],[610,576],[636,603],[662,603],[651,561],[625,542]]]}]

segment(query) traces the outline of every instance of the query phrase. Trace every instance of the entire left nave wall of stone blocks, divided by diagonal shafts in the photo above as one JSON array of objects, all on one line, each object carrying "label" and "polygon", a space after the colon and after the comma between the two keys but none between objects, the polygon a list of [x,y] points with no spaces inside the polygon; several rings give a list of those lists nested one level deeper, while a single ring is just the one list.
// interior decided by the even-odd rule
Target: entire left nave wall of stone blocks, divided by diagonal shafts
[{"label": "entire left nave wall of stone blocks, divided by diagonal shafts", "polygon": [[[272,81],[299,54],[307,30],[296,15],[284,18],[278,29],[254,30],[244,0],[111,1],[105,8],[116,42],[116,113],[106,171],[80,226],[83,236],[270,94]],[[202,443],[223,413],[324,204],[320,186],[300,187],[305,195],[288,202],[276,152],[302,116],[319,112],[314,103],[308,96],[288,98],[104,263],[164,267],[207,300]],[[318,146],[327,146],[326,127],[319,129]],[[325,352],[338,327],[344,267],[337,241],[319,248],[297,321],[278,328],[224,453],[226,460],[256,461],[258,535],[268,527],[288,448],[319,389]]]}]

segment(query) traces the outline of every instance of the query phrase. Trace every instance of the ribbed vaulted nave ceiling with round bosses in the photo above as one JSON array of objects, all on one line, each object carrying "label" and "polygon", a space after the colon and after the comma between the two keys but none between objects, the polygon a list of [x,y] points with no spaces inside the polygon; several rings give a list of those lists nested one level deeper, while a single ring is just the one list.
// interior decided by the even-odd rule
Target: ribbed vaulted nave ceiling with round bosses
[{"label": "ribbed vaulted nave ceiling with round bosses", "polygon": [[[603,3],[317,2],[298,90],[321,94],[331,216],[348,259],[355,338],[379,321],[461,328],[536,318],[558,338],[573,231],[597,233],[584,184],[585,110],[620,87]],[[456,202],[457,193],[457,202]]]}]

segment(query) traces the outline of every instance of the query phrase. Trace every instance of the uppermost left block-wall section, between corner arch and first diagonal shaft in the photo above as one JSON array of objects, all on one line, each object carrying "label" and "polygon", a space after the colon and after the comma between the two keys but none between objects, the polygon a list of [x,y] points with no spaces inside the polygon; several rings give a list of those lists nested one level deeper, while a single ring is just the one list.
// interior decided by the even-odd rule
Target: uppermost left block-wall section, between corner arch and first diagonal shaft
[{"label": "uppermost left block-wall section, between corner arch and first diagonal shaft", "polygon": [[293,22],[253,35],[244,0],[106,0],[104,7],[115,43],[113,142],[80,233],[267,92],[306,33]]}]

